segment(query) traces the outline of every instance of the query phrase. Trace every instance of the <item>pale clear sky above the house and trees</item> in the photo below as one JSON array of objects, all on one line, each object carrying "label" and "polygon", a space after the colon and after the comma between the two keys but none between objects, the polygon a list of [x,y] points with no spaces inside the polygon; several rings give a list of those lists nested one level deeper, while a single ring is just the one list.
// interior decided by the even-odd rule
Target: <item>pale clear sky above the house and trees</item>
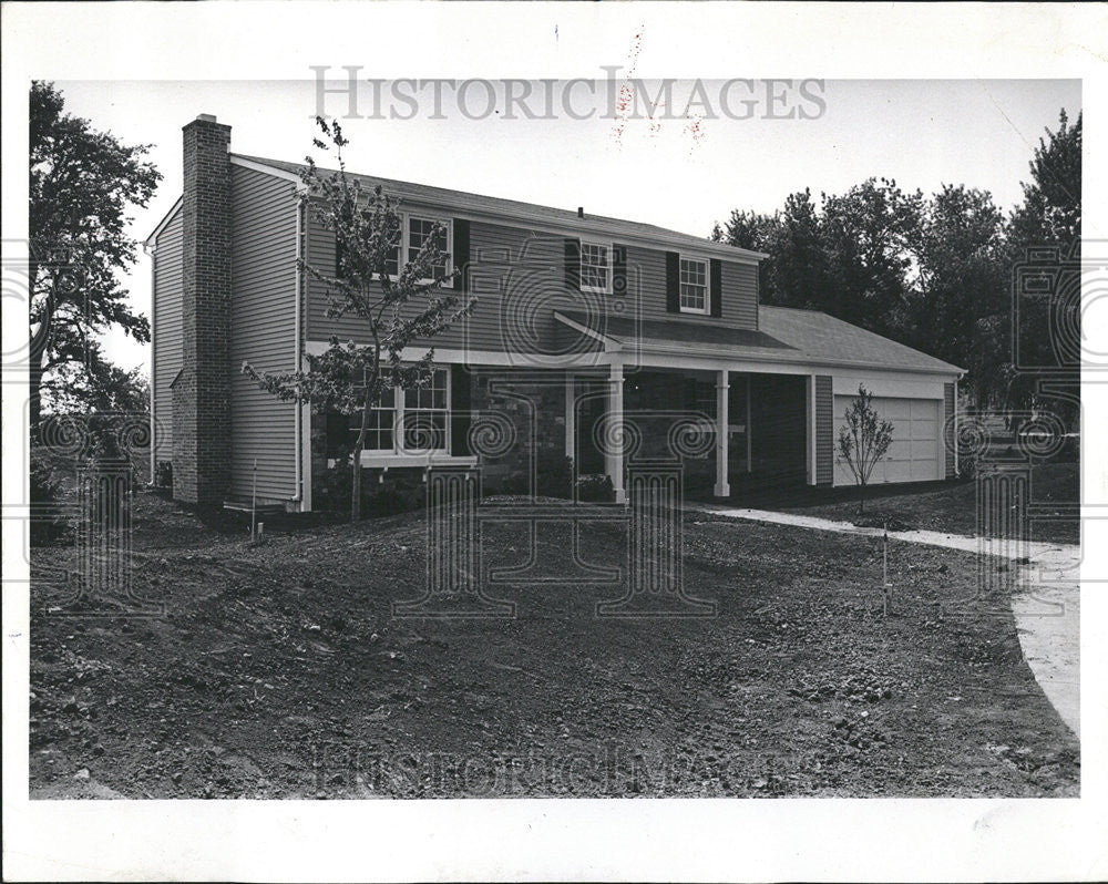
[{"label": "pale clear sky above the house and trees", "polygon": [[[131,233],[144,239],[181,193],[185,123],[214,114],[232,126],[236,153],[301,161],[312,152],[315,114],[351,111],[342,69],[316,78],[55,84],[68,112],[151,145],[164,181],[134,213]],[[320,78],[339,91],[320,96]],[[772,212],[804,187],[842,193],[871,176],[924,193],[979,187],[1009,210],[1045,129],[1057,127],[1060,109],[1071,119],[1081,109],[1078,80],[678,80],[666,92],[660,81],[634,80],[634,48],[595,85],[461,83],[360,80],[355,115],[342,121],[349,166],[701,236],[732,209]],[[509,90],[522,96],[514,110]],[[126,279],[147,316],[148,261]],[[148,359],[122,333],[109,333],[105,348],[126,368]]]}]

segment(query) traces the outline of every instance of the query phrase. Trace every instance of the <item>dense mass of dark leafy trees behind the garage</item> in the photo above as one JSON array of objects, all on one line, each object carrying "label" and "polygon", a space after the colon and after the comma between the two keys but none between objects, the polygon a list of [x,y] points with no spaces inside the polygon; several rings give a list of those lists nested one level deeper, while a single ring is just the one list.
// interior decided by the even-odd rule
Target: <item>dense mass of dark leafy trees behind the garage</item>
[{"label": "dense mass of dark leafy trees behind the garage", "polygon": [[[1048,403],[1038,374],[1017,369],[1013,345],[1030,363],[1076,368],[1076,353],[1054,352],[1060,348],[1049,330],[1051,318],[1077,309],[1080,199],[1081,116],[1070,124],[1061,112],[1007,220],[986,191],[944,185],[926,198],[870,178],[822,194],[818,206],[806,189],[772,215],[732,212],[718,236],[769,255],[759,270],[763,304],[823,310],[962,366],[979,408],[1050,407],[1068,422],[1076,394]],[[1057,290],[1070,297],[1022,301],[1013,341],[1013,270],[1042,246],[1056,248],[1068,268]],[[1076,327],[1079,317],[1068,319]]]}]

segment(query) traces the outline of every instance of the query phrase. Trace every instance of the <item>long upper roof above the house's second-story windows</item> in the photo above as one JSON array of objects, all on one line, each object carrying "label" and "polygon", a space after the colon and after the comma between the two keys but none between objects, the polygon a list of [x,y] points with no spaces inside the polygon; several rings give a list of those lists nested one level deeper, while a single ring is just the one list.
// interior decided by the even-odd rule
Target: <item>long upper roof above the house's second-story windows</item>
[{"label": "long upper roof above the house's second-story windows", "polygon": [[[283,160],[267,160],[260,156],[232,154],[232,161],[238,160],[252,168],[265,167],[280,174],[281,177],[296,176],[307,168],[302,163],[288,163]],[[335,169],[319,167],[320,172],[330,173]],[[757,264],[768,257],[761,251],[714,243],[707,237],[693,236],[679,230],[670,230],[654,224],[630,222],[604,215],[585,215],[578,217],[575,210],[541,206],[535,203],[524,203],[519,199],[503,199],[497,196],[451,191],[445,187],[432,187],[428,184],[381,178],[371,175],[360,175],[347,172],[350,178],[361,182],[362,186],[381,188],[392,195],[413,203],[428,204],[443,209],[453,210],[462,216],[484,215],[491,218],[525,222],[553,233],[596,234],[607,237],[624,237],[640,239],[650,244],[665,244],[674,247],[685,246],[720,258],[743,264]]]}]

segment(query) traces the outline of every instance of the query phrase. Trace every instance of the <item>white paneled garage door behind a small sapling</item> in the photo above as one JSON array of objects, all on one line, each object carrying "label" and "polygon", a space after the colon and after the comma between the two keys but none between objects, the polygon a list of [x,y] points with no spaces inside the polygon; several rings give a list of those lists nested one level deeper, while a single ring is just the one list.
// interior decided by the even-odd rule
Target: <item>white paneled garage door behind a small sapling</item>
[{"label": "white paneled garage door behind a small sapling", "polygon": [[[839,428],[845,423],[847,407],[858,397],[834,398],[835,464],[834,483],[853,485],[854,475],[839,461]],[[893,422],[893,443],[870,476],[870,484],[882,482],[925,482],[942,479],[942,401],[935,399],[889,399],[873,397],[873,410]]]}]

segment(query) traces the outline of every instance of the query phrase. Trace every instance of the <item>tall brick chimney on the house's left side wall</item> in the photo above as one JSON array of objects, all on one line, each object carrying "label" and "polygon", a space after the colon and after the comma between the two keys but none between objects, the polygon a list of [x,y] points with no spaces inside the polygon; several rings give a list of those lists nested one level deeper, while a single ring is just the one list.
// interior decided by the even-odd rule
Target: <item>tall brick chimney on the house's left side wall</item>
[{"label": "tall brick chimney on the house's left side wall", "polygon": [[230,487],[230,126],[184,126],[182,369],[173,384],[173,496],[220,505]]}]

